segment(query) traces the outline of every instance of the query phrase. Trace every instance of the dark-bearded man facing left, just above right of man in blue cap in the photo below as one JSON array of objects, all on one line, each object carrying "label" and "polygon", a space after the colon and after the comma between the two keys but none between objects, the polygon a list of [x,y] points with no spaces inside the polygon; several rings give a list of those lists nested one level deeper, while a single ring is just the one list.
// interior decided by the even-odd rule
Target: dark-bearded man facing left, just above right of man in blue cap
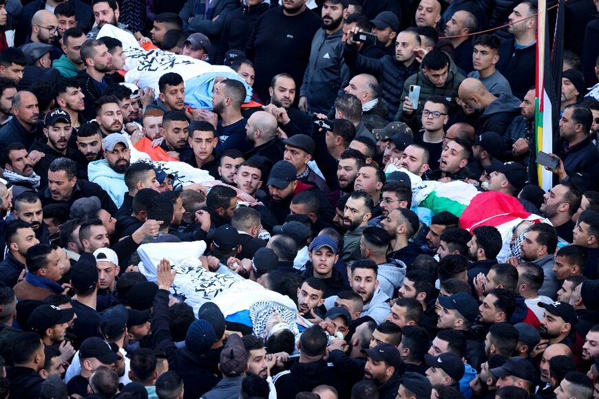
[{"label": "dark-bearded man facing left, just above right of man in blue cap", "polygon": [[345,262],[360,259],[360,237],[372,216],[374,203],[366,191],[357,190],[348,198],[343,217],[346,233],[343,236],[343,260]]}]

